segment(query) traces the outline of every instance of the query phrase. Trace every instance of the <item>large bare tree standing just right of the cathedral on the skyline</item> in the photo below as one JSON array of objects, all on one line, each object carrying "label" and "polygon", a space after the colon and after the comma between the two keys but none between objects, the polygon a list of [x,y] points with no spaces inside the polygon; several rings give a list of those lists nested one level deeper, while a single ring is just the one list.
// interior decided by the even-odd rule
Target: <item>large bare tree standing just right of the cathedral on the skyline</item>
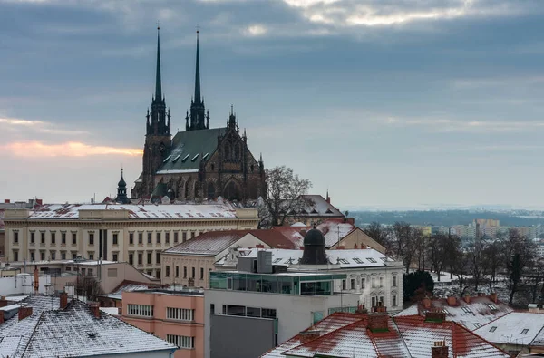
[{"label": "large bare tree standing just right of the cathedral on the skyline", "polygon": [[263,226],[284,225],[288,215],[300,212],[308,203],[301,196],[312,188],[309,179],[300,179],[286,166],[266,170],[267,198],[262,200],[259,214]]}]

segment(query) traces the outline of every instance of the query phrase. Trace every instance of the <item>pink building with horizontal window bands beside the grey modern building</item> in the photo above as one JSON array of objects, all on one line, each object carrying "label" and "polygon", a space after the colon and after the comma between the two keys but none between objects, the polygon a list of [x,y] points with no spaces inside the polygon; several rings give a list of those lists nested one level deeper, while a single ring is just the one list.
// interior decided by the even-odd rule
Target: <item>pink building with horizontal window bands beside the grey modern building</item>
[{"label": "pink building with horizontal window bands beside the grey modern building", "polygon": [[175,358],[204,357],[204,295],[200,290],[123,292],[122,319],[178,345]]}]

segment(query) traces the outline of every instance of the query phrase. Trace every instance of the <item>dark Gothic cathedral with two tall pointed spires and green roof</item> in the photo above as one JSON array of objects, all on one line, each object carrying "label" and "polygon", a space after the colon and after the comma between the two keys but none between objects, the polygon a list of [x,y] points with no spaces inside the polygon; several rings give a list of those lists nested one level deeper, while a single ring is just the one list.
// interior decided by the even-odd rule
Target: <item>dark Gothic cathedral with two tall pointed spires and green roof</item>
[{"label": "dark Gothic cathedral with two tall pointed spires and green roof", "polygon": [[262,156],[257,160],[249,151],[246,131],[240,134],[232,107],[226,127],[210,128],[209,111],[200,92],[198,31],[195,93],[185,116],[185,131],[172,138],[170,109],[160,79],[159,32],[155,95],[146,115],[143,166],[132,198],[199,201],[220,196],[245,201],[265,197]]}]

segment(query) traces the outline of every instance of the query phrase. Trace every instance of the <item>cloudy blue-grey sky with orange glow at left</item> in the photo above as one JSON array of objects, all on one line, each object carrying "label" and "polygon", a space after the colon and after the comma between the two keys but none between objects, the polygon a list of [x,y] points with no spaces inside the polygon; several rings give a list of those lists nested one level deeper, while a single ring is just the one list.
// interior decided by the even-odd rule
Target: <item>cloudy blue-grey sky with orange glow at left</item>
[{"label": "cloudy blue-grey sky with orange glow at left", "polygon": [[542,0],[0,0],[0,198],[141,171],[160,21],[184,126],[200,26],[211,125],[347,206],[544,206]]}]

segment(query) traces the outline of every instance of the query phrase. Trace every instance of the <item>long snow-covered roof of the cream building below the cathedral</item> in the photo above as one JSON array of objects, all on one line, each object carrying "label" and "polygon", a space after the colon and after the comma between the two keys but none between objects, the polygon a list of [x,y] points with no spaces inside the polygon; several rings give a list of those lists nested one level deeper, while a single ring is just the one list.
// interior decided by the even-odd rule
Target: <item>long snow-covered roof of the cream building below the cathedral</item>
[{"label": "long snow-covered roof of the cream building below the cathedral", "polygon": [[236,208],[223,204],[50,204],[30,211],[29,219],[77,219],[81,210],[128,210],[131,219],[236,218]]}]

